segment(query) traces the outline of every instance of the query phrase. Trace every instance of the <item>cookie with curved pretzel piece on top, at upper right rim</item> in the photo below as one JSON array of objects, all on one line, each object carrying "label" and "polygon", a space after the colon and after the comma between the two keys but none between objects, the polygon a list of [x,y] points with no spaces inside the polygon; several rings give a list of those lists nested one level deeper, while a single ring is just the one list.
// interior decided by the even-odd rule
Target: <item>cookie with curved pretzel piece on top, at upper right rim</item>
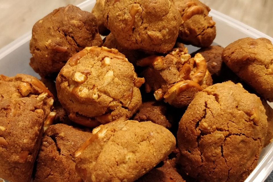
[{"label": "cookie with curved pretzel piece on top, at upper right rim", "polygon": [[181,17],[179,38],[185,44],[208,47],[216,36],[215,22],[208,12],[210,8],[198,0],[174,0]]}]

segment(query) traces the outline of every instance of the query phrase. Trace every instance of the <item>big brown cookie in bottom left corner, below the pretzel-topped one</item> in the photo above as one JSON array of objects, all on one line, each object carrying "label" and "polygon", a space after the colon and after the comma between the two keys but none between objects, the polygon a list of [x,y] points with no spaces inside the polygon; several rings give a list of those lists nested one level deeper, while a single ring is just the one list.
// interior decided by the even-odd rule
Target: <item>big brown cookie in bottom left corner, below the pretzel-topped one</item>
[{"label": "big brown cookie in bottom left corner, below the pretzel-topped one", "polygon": [[46,119],[36,98],[0,98],[0,176],[29,182]]}]

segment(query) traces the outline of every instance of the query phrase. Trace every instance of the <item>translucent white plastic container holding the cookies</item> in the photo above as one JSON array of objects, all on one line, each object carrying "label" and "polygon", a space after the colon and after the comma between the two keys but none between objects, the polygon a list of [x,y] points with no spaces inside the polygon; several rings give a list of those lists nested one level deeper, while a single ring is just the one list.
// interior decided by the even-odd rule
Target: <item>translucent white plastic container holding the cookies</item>
[{"label": "translucent white plastic container holding the cookies", "polygon": [[[78,5],[78,7],[80,7],[82,10],[90,12],[94,7],[95,2],[95,0],[87,0]],[[214,40],[214,44],[226,47],[231,42],[245,37],[264,37],[273,42],[273,38],[237,20],[234,20],[229,16],[226,16],[215,10],[211,10],[210,15],[216,22],[217,29],[217,35]],[[24,73],[40,78],[40,76],[35,73],[33,69],[29,66],[29,61],[31,57],[29,51],[30,38],[31,32],[28,32],[11,44],[0,49],[0,74],[14,76],[17,73]],[[192,52],[195,50],[197,50],[196,47],[190,46],[189,51]],[[270,103],[270,106],[272,107],[273,104]],[[253,170],[253,172],[249,175],[245,182],[262,182],[268,177],[272,170],[273,143],[270,143],[266,148],[262,150],[257,167]]]}]

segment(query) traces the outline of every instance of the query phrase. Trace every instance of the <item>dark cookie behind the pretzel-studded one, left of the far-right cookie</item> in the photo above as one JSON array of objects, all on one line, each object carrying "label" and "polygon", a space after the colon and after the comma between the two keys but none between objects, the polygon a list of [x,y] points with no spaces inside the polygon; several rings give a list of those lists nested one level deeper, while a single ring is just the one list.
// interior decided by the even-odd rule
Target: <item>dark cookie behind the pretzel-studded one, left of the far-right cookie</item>
[{"label": "dark cookie behind the pretzel-studded one, left of the far-right cookie", "polygon": [[209,46],[199,49],[192,55],[195,55],[196,53],[202,54],[207,62],[207,69],[210,72],[211,76],[214,78],[221,75],[223,49],[224,48],[221,46]]}]

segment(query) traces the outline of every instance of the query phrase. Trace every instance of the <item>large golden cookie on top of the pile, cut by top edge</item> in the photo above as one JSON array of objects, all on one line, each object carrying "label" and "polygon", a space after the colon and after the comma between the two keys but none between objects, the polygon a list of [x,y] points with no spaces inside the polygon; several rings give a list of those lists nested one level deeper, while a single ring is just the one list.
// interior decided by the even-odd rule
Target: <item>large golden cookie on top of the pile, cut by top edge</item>
[{"label": "large golden cookie on top of the pile, cut by top edge", "polygon": [[122,47],[159,53],[173,48],[181,24],[171,0],[106,0],[103,19]]}]

